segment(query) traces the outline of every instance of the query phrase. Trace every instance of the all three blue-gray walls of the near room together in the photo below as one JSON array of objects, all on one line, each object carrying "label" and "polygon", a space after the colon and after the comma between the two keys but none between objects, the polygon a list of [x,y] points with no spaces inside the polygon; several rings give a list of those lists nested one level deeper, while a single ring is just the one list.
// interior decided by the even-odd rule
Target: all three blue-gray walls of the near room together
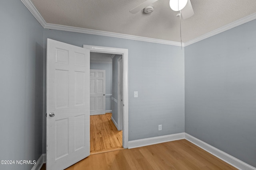
[{"label": "all three blue-gray walls of the near room together", "polygon": [[256,167],[256,20],[185,47],[185,119],[180,47],[43,29],[19,0],[0,1],[0,21],[0,160],[45,153],[46,39],[52,38],[129,50],[130,141],[185,130]]}]

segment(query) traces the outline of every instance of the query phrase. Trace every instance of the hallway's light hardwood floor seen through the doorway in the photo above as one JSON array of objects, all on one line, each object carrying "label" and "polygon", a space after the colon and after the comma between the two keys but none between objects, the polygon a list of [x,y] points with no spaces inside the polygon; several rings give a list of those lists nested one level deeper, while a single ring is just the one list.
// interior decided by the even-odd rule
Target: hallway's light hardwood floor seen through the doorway
[{"label": "hallway's light hardwood floor seen through the doorway", "polygon": [[122,131],[111,120],[112,113],[90,116],[90,154],[122,148]]}]

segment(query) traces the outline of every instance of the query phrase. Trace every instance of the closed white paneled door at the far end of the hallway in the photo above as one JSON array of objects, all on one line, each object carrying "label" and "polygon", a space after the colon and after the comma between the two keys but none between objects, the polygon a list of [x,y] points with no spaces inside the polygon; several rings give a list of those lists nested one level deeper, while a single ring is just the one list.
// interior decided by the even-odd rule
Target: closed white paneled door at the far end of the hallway
[{"label": "closed white paneled door at the far end of the hallway", "polygon": [[106,113],[106,71],[90,70],[90,115]]}]

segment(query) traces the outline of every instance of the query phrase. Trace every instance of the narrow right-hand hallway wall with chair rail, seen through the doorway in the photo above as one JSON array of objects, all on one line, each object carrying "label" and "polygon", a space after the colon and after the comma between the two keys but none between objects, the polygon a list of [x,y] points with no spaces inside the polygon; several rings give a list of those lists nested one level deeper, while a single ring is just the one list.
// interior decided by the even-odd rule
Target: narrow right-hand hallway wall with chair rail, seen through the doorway
[{"label": "narrow right-hand hallway wall with chair rail, seen through the doorway", "polygon": [[[115,57],[112,59],[112,98],[115,100],[118,100],[118,59],[121,58],[122,55],[115,55]],[[114,100],[111,101],[112,104],[112,117],[118,123],[118,103],[116,103]],[[119,126],[119,125],[118,125]],[[118,129],[121,130],[121,129]]]}]

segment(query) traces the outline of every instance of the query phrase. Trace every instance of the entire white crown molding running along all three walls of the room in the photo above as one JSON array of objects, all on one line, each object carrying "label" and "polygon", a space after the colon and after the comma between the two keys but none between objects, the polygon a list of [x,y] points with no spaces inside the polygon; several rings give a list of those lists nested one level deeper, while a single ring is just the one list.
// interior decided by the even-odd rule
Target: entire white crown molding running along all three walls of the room
[{"label": "entire white crown molding running along all three walls of the room", "polygon": [[[162,39],[154,39],[154,38],[140,37],[140,36],[135,36],[135,35],[113,33],[113,32],[108,32],[108,31],[99,31],[99,30],[94,30],[94,29],[86,29],[86,28],[71,27],[71,26],[66,26],[66,25],[46,23],[44,18],[41,16],[41,14],[38,12],[36,7],[32,4],[32,2],[30,0],[21,0],[21,2],[28,8],[28,10],[33,14],[33,16],[36,18],[36,20],[38,20],[38,22],[42,25],[42,27],[44,27],[46,29],[56,29],[56,30],[62,30],[62,31],[71,31],[71,32],[77,32],[77,33],[93,34],[93,35],[102,35],[102,36],[107,36],[107,37],[130,39],[130,40],[136,40],[136,41],[145,41],[145,42],[149,42],[149,43],[180,46],[180,42],[176,42],[176,41],[167,41],[167,40],[162,40]],[[192,39],[190,41],[182,43],[182,47],[186,47],[188,45],[191,45],[193,43],[196,43],[196,42],[206,39],[208,37],[212,37],[218,33],[222,33],[228,29],[234,28],[238,25],[242,25],[243,23],[252,21],[254,19],[256,19],[256,13],[246,16],[244,18],[241,18],[239,20],[236,20],[232,23],[229,23],[228,25],[225,25],[223,27],[215,29],[214,31],[206,33],[206,34],[199,36],[195,39]]]}]

